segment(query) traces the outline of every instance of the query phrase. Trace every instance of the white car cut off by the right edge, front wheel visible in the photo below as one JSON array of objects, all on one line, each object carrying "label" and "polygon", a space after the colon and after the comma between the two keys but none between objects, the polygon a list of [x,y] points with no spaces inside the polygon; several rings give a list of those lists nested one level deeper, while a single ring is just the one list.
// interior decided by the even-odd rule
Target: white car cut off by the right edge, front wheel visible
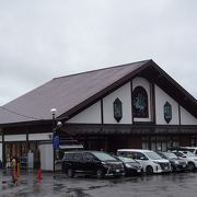
[{"label": "white car cut off by the right edge, front wheel visible", "polygon": [[194,171],[197,169],[197,157],[190,151],[174,150],[172,152],[175,153],[178,158],[183,158],[188,162],[187,169],[189,171]]}]

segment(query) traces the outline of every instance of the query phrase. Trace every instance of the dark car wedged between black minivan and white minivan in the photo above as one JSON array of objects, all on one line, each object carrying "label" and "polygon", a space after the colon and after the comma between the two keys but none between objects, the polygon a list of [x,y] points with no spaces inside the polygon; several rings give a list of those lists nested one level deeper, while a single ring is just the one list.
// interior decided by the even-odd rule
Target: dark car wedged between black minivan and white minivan
[{"label": "dark car wedged between black minivan and white minivan", "polygon": [[125,157],[116,157],[116,158],[123,162],[125,166],[126,176],[139,175],[143,173],[142,165],[136,160],[131,158],[125,158]]}]

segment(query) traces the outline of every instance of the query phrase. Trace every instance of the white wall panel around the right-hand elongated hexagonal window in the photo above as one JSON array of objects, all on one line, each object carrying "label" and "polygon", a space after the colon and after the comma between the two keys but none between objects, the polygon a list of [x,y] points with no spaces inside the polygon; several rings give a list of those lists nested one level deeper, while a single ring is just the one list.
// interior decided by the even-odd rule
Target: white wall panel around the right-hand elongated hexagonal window
[{"label": "white wall panel around the right-hand elongated hexagonal window", "polygon": [[169,125],[179,125],[178,120],[178,103],[174,101],[170,95],[167,95],[158,85],[155,86],[155,118],[158,125],[167,125],[164,119],[163,106],[166,102],[172,105],[172,120]]}]

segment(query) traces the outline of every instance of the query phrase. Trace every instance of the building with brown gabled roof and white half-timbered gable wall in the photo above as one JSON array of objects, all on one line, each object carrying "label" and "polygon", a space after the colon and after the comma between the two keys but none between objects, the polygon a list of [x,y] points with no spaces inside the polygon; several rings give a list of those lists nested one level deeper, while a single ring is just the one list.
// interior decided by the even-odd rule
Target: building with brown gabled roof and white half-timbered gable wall
[{"label": "building with brown gabled roof and white half-timbered gable wall", "polygon": [[85,149],[197,146],[196,99],[152,60],[56,78],[1,106],[3,161],[51,140],[51,108],[60,139]]}]

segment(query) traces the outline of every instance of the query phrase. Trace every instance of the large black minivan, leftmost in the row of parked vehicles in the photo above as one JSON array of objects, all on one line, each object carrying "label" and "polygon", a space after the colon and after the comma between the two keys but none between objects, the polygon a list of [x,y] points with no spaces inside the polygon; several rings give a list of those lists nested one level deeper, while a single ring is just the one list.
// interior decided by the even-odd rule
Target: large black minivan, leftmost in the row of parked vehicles
[{"label": "large black minivan, leftmost in the row of parked vehicles", "polygon": [[65,152],[62,172],[69,177],[73,177],[74,173],[85,173],[97,178],[125,174],[123,163],[103,151]]}]

